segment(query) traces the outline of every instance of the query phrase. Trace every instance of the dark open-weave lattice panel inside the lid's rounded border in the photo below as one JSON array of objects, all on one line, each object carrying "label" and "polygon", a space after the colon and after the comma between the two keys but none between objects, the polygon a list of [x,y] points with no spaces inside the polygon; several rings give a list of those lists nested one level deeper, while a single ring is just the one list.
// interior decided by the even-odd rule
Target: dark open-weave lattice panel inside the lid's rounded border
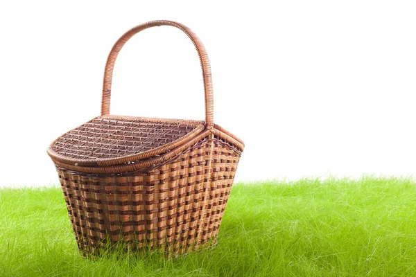
[{"label": "dark open-weave lattice panel inside the lid's rounded border", "polygon": [[182,123],[94,118],[61,136],[52,150],[71,159],[123,157],[176,141],[195,128]]}]

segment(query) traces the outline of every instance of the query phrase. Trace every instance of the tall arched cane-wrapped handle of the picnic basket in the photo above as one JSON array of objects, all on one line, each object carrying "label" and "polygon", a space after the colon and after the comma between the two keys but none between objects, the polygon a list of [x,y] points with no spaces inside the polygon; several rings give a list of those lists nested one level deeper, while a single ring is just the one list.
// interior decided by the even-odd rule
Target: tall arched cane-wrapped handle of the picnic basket
[{"label": "tall arched cane-wrapped handle of the picnic basket", "polygon": [[205,122],[207,127],[211,129],[214,126],[214,96],[212,93],[212,80],[211,80],[211,66],[209,65],[209,58],[204,45],[200,41],[199,37],[192,32],[187,26],[184,26],[175,21],[156,20],[148,21],[144,24],[136,26],[128,30],[122,35],[119,40],[112,47],[110,54],[107,58],[107,64],[105,64],[104,80],[103,80],[103,96],[101,98],[101,116],[110,114],[110,101],[111,101],[111,85],[112,74],[114,70],[114,64],[116,62],[117,55],[123,48],[124,44],[128,42],[133,35],[139,33],[141,30],[145,30],[154,26],[173,26],[182,30],[189,39],[193,42],[193,45],[198,51],[200,63],[202,67],[202,76],[204,78],[204,92],[205,92]]}]

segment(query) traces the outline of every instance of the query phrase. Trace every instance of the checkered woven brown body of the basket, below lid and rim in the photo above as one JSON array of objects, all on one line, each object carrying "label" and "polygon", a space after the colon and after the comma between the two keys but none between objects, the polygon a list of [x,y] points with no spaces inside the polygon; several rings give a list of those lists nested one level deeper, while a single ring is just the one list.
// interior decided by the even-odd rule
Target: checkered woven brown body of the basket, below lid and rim
[{"label": "checkered woven brown body of the basket, below lid and rim", "polygon": [[81,253],[108,244],[184,253],[215,242],[241,152],[218,136],[168,163],[120,175],[57,166]]}]

